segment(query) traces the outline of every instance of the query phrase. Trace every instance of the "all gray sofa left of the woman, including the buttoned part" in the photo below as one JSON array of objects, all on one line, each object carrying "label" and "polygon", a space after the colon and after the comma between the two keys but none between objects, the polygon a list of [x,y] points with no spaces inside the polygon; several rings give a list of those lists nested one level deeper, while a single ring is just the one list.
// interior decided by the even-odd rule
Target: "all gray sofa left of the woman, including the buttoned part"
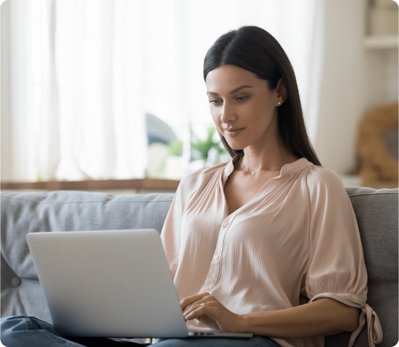
[{"label": "all gray sofa left of the woman, including the buttoned part", "polygon": [[30,314],[50,321],[26,234],[38,231],[161,231],[174,194],[85,191],[1,192],[1,317]]}]

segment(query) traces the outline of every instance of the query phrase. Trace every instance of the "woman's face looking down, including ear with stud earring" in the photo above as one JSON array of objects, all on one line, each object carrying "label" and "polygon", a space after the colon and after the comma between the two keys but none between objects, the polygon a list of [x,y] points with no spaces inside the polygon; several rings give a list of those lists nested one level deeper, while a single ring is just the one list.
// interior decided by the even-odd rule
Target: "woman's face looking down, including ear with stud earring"
[{"label": "woman's face looking down, including ear with stud earring", "polygon": [[208,73],[206,86],[213,121],[231,148],[263,146],[277,139],[277,107],[285,100],[281,80],[270,90],[254,73],[221,65]]}]

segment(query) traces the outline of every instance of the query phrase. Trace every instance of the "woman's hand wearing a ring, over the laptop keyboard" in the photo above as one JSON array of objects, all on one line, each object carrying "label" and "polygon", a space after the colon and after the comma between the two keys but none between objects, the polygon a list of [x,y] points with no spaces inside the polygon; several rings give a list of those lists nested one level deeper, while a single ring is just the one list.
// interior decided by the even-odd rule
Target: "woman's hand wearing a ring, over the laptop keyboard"
[{"label": "woman's hand wearing a ring, over the laptop keyboard", "polygon": [[[244,321],[241,315],[233,313],[207,292],[188,296],[180,302],[186,320],[201,316],[211,317],[225,333],[245,332]],[[204,319],[206,321],[206,319]]]}]

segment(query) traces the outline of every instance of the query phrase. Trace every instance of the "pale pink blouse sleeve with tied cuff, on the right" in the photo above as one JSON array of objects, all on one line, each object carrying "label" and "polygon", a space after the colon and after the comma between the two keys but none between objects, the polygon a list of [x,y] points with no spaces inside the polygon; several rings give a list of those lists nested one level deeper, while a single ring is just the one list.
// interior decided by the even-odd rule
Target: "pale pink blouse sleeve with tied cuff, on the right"
[{"label": "pale pink blouse sleeve with tied cuff, on the right", "polygon": [[369,347],[382,340],[377,314],[366,304],[367,271],[356,216],[340,177],[312,166],[307,174],[310,204],[309,263],[306,296],[310,302],[331,298],[361,309],[358,329],[367,321]]}]

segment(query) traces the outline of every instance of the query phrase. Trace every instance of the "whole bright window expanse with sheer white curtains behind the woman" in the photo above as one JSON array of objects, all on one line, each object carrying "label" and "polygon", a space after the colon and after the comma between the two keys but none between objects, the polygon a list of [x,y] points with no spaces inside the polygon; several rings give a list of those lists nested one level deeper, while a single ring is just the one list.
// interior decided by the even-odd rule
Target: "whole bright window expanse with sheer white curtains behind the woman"
[{"label": "whole bright window expanse with sheer white curtains behind the woman", "polygon": [[[269,31],[290,58],[311,139],[322,0],[7,0],[1,6],[1,179],[143,177],[145,113],[184,141],[212,123],[203,57],[229,29]],[[7,53],[5,53],[7,52]],[[206,133],[206,130],[205,130]]]}]

